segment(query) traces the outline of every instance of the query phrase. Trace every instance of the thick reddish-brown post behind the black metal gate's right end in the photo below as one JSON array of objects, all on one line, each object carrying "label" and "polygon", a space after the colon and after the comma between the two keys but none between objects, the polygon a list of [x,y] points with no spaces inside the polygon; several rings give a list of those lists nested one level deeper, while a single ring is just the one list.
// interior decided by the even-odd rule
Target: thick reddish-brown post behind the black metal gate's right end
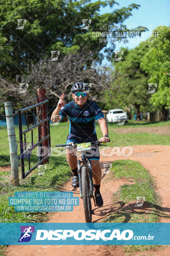
[{"label": "thick reddish-brown post behind the black metal gate's right end", "polygon": [[[38,102],[43,102],[46,100],[46,96],[45,96],[45,89],[37,89],[37,101]],[[40,108],[39,108],[40,109]],[[46,111],[46,104],[42,105],[42,120],[47,118],[47,111]],[[45,122],[45,130],[44,130],[44,124],[40,125],[40,138],[44,138],[45,136],[47,136],[47,122]],[[43,153],[43,157],[45,157],[48,154],[48,139],[44,141],[44,153]],[[49,159],[45,159],[44,162],[42,164],[48,163]]]}]

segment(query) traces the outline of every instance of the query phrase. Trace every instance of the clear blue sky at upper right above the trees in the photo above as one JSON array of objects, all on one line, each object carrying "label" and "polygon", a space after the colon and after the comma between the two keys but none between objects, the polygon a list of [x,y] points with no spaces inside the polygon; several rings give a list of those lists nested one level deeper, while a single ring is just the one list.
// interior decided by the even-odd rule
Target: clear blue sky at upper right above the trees
[{"label": "clear blue sky at upper right above the trees", "polygon": [[[95,2],[96,0],[92,0]],[[107,6],[100,9],[100,13],[110,13],[114,9],[127,7],[132,3],[139,4],[139,9],[132,11],[132,16],[125,20],[124,24],[127,26],[150,26],[150,31],[155,29],[157,26],[170,26],[170,0],[117,0],[119,5],[114,5],[113,8]],[[116,43],[116,49],[120,47],[128,47],[132,49],[139,45],[140,41],[144,41],[150,37],[149,32],[146,33],[146,38],[138,38],[137,42],[129,42],[127,44]],[[109,47],[109,45],[108,45]],[[102,64],[109,63],[104,60]]]}]

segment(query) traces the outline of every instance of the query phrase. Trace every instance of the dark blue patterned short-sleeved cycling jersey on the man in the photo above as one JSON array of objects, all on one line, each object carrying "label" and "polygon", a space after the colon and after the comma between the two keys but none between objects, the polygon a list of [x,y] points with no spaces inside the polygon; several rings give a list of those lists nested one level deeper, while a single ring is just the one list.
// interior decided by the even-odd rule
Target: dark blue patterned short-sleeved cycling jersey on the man
[{"label": "dark blue patterned short-sleeved cycling jersey on the man", "polygon": [[61,115],[61,119],[68,116],[70,121],[69,133],[80,137],[96,134],[95,120],[104,118],[99,106],[89,100],[82,107],[79,107],[73,100],[61,108],[59,115]]}]

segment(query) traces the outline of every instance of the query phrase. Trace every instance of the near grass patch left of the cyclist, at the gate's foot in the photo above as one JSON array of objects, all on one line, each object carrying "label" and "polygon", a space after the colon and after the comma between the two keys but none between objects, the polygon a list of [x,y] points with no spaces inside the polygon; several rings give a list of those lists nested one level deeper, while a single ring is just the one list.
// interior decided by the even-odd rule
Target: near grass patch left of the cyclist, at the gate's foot
[{"label": "near grass patch left of the cyclist, at the gate's foot", "polygon": [[[37,157],[31,157],[31,162],[37,163]],[[20,177],[20,186],[11,183],[10,175],[0,171],[0,222],[43,222],[47,220],[46,212],[15,212],[13,206],[8,206],[8,197],[17,191],[59,191],[70,179],[71,171],[65,157],[50,157],[44,175],[38,175],[35,169],[24,180]]]}]

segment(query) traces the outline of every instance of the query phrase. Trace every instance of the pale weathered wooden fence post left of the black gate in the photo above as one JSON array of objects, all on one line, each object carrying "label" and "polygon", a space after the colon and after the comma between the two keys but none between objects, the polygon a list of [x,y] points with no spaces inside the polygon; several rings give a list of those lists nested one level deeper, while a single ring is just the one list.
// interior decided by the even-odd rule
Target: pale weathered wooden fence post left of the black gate
[{"label": "pale weathered wooden fence post left of the black gate", "polygon": [[18,173],[17,141],[15,137],[12,102],[5,102],[6,124],[8,130],[9,154],[11,161],[11,176],[15,186],[20,186]]}]

